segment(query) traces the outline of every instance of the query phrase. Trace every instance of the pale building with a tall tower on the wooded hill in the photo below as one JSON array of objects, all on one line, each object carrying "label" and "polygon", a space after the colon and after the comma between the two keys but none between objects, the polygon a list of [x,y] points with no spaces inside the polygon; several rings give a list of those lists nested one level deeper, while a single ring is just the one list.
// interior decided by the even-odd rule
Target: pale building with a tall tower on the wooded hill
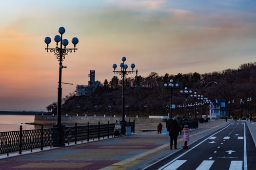
[{"label": "pale building with a tall tower on the wooded hill", "polygon": [[99,81],[95,81],[95,70],[90,70],[90,81],[88,81],[88,85],[77,85],[76,96],[86,96],[94,92],[97,86],[100,86]]}]

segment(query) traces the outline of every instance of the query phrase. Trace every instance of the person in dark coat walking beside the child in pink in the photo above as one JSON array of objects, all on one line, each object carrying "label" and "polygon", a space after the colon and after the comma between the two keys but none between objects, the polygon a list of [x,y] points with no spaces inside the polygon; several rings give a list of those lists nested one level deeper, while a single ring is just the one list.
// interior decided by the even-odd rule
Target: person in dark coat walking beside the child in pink
[{"label": "person in dark coat walking beside the child in pink", "polygon": [[177,138],[180,131],[177,117],[174,117],[174,119],[167,125],[167,130],[169,131],[170,136],[170,149],[173,149],[173,141],[174,141],[174,148],[177,149]]}]

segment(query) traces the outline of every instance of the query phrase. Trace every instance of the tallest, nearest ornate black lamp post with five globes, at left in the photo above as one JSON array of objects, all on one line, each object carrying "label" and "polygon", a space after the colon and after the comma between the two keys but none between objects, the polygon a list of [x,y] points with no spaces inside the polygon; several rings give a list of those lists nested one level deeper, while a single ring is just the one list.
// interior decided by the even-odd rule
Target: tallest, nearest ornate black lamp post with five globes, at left
[{"label": "tallest, nearest ornate black lamp post with five globes, at left", "polygon": [[[54,127],[58,128],[58,132],[56,132],[55,141],[53,146],[65,146],[65,140],[64,140],[64,126],[61,124],[61,71],[62,68],[66,68],[62,66],[62,62],[65,59],[65,56],[68,54],[68,52],[76,52],[78,50],[76,48],[76,45],[78,44],[78,38],[74,37],[72,39],[72,43],[74,44],[74,48],[68,49],[66,46],[68,45],[67,39],[62,39],[62,34],[65,33],[64,27],[59,27],[59,34],[55,35],[54,41],[56,42],[55,48],[48,48],[49,44],[51,43],[51,38],[49,36],[45,37],[44,42],[47,44],[47,52],[50,50],[50,52],[54,52],[54,55],[56,55],[57,60],[59,61],[59,87],[58,87],[58,107],[57,107],[57,123]],[[60,43],[60,46],[58,47],[58,43]],[[58,136],[57,136],[58,134]]]}]

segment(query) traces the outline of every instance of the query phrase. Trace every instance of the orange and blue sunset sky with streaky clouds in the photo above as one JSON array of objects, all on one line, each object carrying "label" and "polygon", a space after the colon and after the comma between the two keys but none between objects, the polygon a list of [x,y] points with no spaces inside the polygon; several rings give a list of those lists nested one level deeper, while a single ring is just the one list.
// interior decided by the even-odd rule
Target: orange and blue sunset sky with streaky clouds
[{"label": "orange and blue sunset sky with streaky clouds", "polygon": [[59,62],[44,38],[55,48],[59,27],[67,48],[79,38],[63,62],[62,82],[74,85],[63,84],[62,97],[88,85],[91,69],[110,81],[122,56],[144,77],[237,69],[256,57],[255,0],[1,0],[0,12],[0,110],[57,102]]}]

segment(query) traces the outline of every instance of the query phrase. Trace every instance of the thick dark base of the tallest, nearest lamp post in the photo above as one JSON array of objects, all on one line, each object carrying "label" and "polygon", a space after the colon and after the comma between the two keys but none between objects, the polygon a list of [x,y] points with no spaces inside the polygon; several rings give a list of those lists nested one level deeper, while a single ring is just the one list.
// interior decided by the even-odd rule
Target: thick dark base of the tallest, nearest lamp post
[{"label": "thick dark base of the tallest, nearest lamp post", "polygon": [[65,137],[64,137],[64,128],[65,126],[60,124],[60,125],[53,125],[54,129],[54,134],[53,134],[53,146],[54,147],[61,147],[65,146]]}]

